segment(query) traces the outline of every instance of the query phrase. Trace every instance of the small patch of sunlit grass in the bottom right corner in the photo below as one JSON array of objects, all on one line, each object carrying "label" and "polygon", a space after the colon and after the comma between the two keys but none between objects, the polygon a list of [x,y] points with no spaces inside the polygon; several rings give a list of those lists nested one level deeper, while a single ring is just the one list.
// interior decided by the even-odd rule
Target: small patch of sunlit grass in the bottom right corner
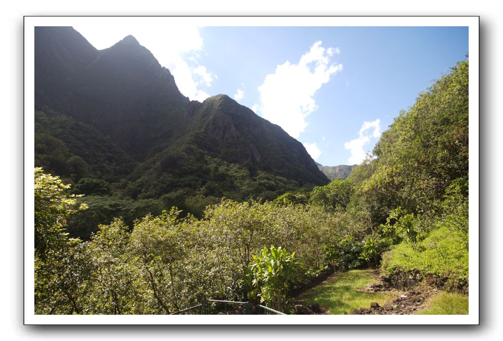
[{"label": "small patch of sunlit grass in the bottom right corner", "polygon": [[468,296],[441,291],[430,297],[426,305],[429,308],[416,312],[418,315],[467,315]]}]

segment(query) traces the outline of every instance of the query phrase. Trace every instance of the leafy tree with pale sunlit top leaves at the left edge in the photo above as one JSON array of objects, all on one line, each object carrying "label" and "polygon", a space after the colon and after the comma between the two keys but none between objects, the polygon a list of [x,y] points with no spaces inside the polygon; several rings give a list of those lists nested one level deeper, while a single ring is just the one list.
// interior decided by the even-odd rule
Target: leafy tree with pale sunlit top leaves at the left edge
[{"label": "leafy tree with pale sunlit top leaves at the left edge", "polygon": [[[75,213],[75,196],[59,177],[35,168],[35,311],[45,314],[81,313],[76,291],[82,283],[79,239],[68,238],[66,219]],[[81,205],[80,210],[87,207]]]}]

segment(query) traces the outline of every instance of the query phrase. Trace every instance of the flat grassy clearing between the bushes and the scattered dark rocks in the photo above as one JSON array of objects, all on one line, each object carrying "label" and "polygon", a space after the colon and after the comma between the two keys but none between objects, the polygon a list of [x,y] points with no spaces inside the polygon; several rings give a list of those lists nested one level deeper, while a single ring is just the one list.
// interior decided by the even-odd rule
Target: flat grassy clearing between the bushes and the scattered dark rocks
[{"label": "flat grassy clearing between the bushes and the scattered dark rocks", "polygon": [[384,305],[399,296],[398,291],[368,293],[358,291],[376,282],[372,270],[350,270],[309,289],[298,298],[305,306],[318,303],[328,314],[346,315],[351,310],[370,308],[371,302]]}]

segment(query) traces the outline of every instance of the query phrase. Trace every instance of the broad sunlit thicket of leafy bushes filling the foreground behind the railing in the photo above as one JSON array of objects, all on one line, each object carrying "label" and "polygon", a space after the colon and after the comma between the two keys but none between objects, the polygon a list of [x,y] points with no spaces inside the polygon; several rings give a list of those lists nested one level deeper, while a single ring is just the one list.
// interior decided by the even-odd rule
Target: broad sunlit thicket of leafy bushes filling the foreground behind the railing
[{"label": "broad sunlit thicket of leafy bushes filling the foreground behind the railing", "polygon": [[[39,192],[50,188],[40,181],[46,177],[39,170],[35,173]],[[51,200],[42,196],[43,205],[37,207]],[[52,250],[60,252],[45,259],[36,253],[35,311],[168,314],[205,297],[246,300],[253,296],[277,309],[288,309],[290,284],[323,269],[323,246],[334,235],[348,233],[338,223],[339,214],[309,205],[223,200],[207,207],[200,220],[180,213],[172,208],[157,217],[147,215],[136,220],[131,231],[121,219],[114,219],[81,242],[64,232],[73,210],[48,212],[47,221],[59,223],[60,241]],[[282,247],[264,250],[269,242]]]}]

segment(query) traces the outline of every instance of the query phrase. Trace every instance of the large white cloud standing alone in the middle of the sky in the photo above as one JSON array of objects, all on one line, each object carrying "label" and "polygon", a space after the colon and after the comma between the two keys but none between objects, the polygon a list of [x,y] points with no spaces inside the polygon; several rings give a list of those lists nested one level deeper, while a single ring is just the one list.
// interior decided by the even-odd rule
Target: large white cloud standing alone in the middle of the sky
[{"label": "large white cloud standing alone in the middle of the sky", "polygon": [[298,64],[287,61],[278,65],[275,73],[267,75],[259,86],[257,110],[262,117],[297,138],[308,126],[307,116],[318,108],[313,99],[316,90],[342,70],[342,65],[331,64],[332,56],[337,53],[338,48],[324,48],[317,41]]}]

